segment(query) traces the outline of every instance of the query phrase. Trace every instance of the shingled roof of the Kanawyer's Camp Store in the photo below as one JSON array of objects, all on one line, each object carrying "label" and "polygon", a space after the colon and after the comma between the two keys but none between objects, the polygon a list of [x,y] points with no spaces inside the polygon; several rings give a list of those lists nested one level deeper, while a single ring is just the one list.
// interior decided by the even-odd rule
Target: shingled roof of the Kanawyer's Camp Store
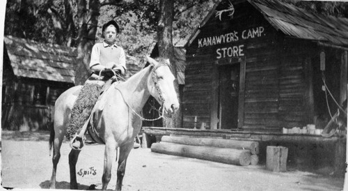
[{"label": "shingled roof of the Kanawyer's Camp Store", "polygon": [[[285,36],[348,47],[348,19],[345,17],[310,13],[308,10],[281,1],[246,1],[251,3],[252,6],[262,13],[265,20],[274,26],[276,30],[283,32]],[[216,3],[212,13],[215,12],[219,3],[221,1]],[[200,27],[204,26],[209,20],[209,17],[214,15],[212,13],[208,14]],[[199,33],[199,30],[191,35],[186,46],[192,43],[192,38],[195,38],[197,33]]]}]

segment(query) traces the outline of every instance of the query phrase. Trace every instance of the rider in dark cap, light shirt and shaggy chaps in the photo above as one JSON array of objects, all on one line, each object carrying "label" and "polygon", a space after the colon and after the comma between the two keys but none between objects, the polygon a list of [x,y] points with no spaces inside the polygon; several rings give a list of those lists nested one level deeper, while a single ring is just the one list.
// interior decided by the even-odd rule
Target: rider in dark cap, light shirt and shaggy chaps
[{"label": "rider in dark cap, light shirt and shaggy chaps", "polygon": [[111,85],[116,75],[125,74],[127,69],[125,51],[116,45],[118,33],[120,28],[117,22],[114,20],[107,22],[102,27],[104,41],[93,46],[89,65],[93,74],[86,80],[79,93],[65,134],[70,139],[73,149],[81,149],[84,146],[84,133],[90,112],[101,93]]}]

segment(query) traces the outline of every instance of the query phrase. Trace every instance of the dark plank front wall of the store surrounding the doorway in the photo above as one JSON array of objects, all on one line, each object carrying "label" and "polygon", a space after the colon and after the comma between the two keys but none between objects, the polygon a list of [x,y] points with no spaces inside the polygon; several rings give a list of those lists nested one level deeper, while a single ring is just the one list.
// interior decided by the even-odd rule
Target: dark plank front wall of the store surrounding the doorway
[{"label": "dark plank front wall of the store surrounding the doorway", "polygon": [[[283,127],[313,123],[310,68],[317,49],[306,40],[286,38],[247,3],[237,4],[235,8],[240,11],[232,20],[211,17],[187,47],[183,128],[200,128],[202,123],[206,129],[219,128],[217,70],[226,64],[242,66],[243,61],[245,68],[241,67],[240,76],[245,74],[245,79],[241,78],[239,87],[239,93],[244,90],[239,94],[239,128],[281,132]],[[246,36],[248,31],[254,36]],[[235,36],[229,43],[204,43],[226,33]],[[242,54],[228,56],[226,53],[223,57],[221,49],[240,45]]]}]

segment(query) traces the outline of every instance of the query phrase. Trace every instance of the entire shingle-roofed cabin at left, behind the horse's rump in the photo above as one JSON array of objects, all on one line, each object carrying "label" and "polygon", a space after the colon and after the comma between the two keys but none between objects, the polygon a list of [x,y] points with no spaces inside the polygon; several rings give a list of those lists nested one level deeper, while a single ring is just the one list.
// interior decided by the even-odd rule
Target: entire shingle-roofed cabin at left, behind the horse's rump
[{"label": "entire shingle-roofed cabin at left, behind the horse's rump", "polygon": [[2,127],[48,130],[54,102],[74,86],[77,49],[4,36]]}]

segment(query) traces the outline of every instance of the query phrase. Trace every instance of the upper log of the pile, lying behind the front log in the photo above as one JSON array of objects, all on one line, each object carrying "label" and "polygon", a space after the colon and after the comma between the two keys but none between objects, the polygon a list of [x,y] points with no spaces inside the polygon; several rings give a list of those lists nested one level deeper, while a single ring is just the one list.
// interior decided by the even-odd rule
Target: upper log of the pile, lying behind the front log
[{"label": "upper log of the pile, lying behind the front log", "polygon": [[240,141],[232,139],[212,139],[203,137],[178,137],[178,136],[163,136],[161,142],[187,144],[193,146],[214,146],[219,148],[235,148],[249,150],[251,154],[260,152],[258,142]]}]

